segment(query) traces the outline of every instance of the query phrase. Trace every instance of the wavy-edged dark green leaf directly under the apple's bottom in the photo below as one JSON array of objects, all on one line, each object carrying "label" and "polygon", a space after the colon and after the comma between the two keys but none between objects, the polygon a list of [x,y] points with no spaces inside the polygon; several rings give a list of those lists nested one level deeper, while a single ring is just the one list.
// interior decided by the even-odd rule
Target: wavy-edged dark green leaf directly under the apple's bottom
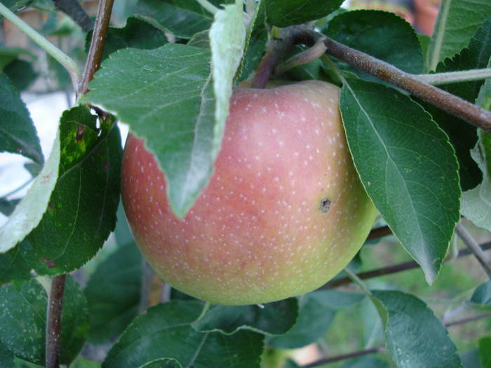
[{"label": "wavy-edged dark green leaf directly under the apple's bottom", "polygon": [[295,324],[298,315],[297,299],[289,298],[264,306],[213,305],[193,327],[201,332],[219,331],[234,334],[250,329],[263,334],[284,334]]}]

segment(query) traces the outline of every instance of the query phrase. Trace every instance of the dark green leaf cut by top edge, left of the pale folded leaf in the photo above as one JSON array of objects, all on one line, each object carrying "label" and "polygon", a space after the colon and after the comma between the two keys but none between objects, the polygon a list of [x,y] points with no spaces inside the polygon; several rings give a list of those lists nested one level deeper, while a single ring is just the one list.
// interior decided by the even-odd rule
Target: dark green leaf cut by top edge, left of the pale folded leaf
[{"label": "dark green leaf cut by top edge, left of the pale folded leaf", "polygon": [[154,21],[181,39],[210,28],[213,15],[196,0],[140,0],[137,13]]}]

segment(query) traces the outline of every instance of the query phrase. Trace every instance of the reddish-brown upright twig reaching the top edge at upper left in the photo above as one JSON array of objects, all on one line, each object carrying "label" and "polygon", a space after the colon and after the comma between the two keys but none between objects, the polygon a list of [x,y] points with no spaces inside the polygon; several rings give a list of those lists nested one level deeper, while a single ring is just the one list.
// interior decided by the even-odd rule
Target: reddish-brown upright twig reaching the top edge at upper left
[{"label": "reddish-brown upright twig reaching the top edge at upper left", "polygon": [[99,69],[102,60],[102,52],[104,51],[104,43],[107,36],[107,28],[111,19],[112,4],[114,0],[100,0],[97,8],[97,18],[95,19],[92,39],[90,40],[90,48],[88,49],[86,67],[83,70],[82,81],[79,86],[78,95],[85,94],[88,90],[88,82],[90,82]]}]

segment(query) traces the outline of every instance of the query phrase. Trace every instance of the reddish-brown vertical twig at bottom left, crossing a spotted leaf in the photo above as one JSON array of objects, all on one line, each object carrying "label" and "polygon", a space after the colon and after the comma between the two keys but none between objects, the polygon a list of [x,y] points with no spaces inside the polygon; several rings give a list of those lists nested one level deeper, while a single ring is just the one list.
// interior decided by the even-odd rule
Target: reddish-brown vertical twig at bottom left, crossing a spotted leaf
[{"label": "reddish-brown vertical twig at bottom left, crossing a spotted leaf", "polygon": [[63,292],[67,275],[53,277],[46,317],[46,368],[60,367],[60,332]]}]

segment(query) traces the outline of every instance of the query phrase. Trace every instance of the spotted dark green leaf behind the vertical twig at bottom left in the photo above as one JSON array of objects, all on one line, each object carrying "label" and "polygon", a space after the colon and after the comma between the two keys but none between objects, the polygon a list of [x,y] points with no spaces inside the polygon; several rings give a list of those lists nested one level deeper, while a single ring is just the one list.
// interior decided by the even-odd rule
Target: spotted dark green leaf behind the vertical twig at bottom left
[{"label": "spotted dark green leaf behind the vertical twig at bottom left", "polygon": [[[36,280],[0,288],[0,343],[16,357],[35,364],[44,363],[46,291]],[[68,364],[79,353],[88,333],[87,301],[69,275],[65,283],[62,310],[60,363]]]}]

